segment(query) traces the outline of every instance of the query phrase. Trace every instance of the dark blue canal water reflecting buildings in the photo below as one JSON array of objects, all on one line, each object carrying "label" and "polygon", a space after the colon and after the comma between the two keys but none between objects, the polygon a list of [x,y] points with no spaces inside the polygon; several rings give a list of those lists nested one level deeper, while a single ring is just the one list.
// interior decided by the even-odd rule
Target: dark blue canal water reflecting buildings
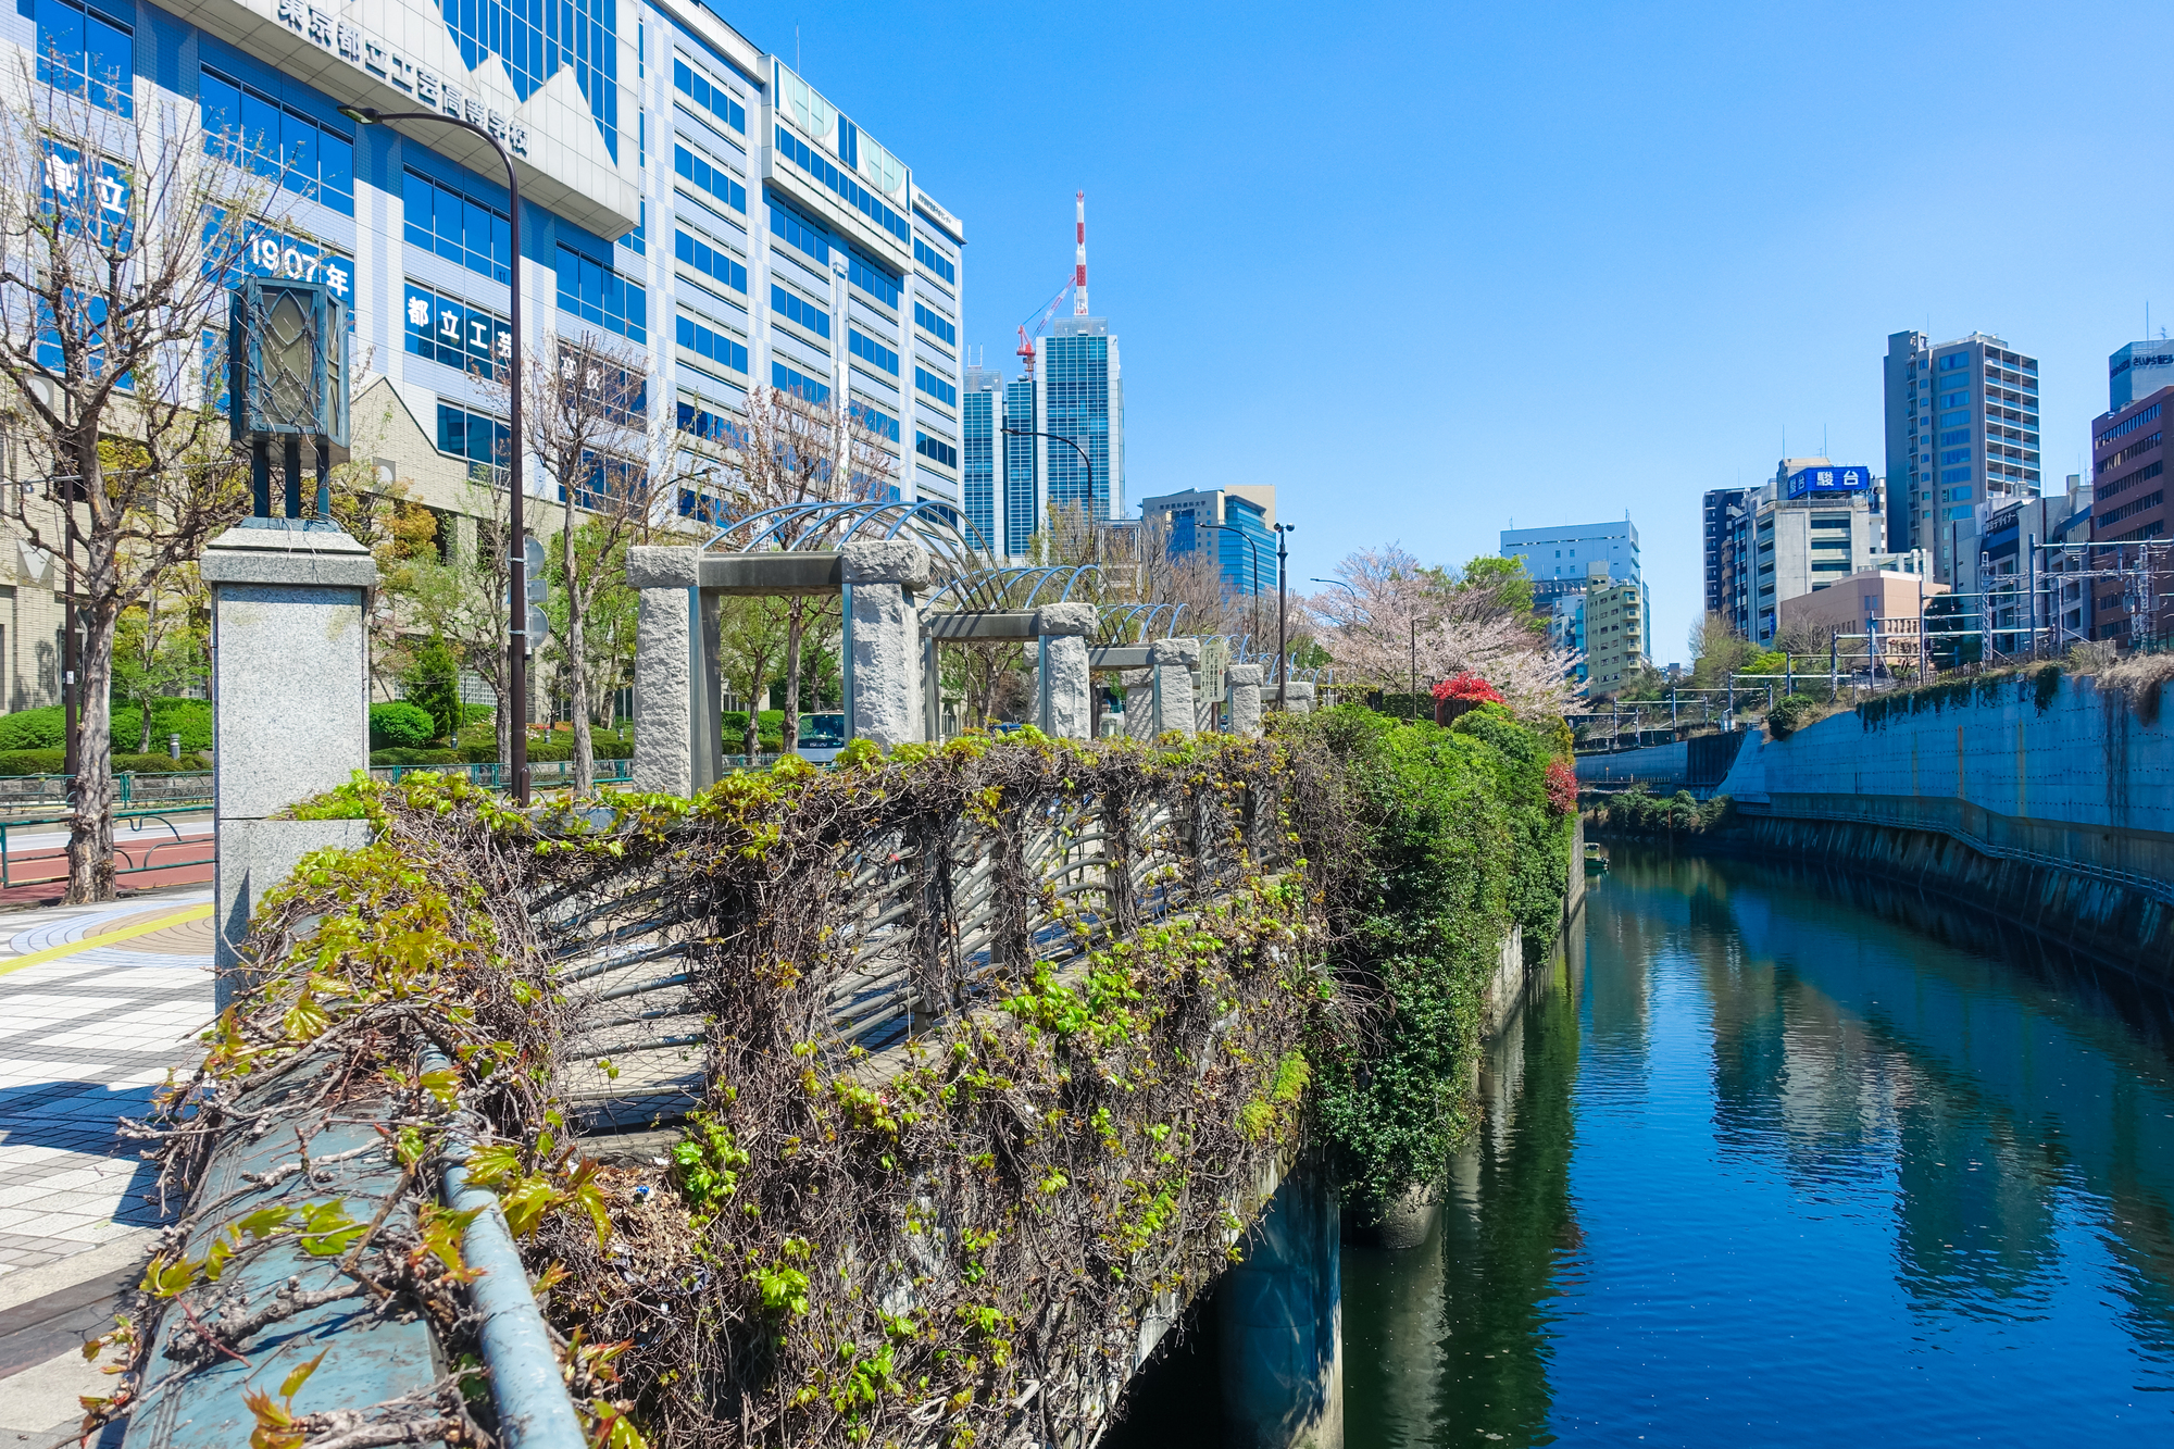
[{"label": "dark blue canal water reflecting buildings", "polygon": [[1613,857],[1441,1229],[1344,1253],[1346,1442],[2174,1445],[2165,1001],[1861,879]]}]

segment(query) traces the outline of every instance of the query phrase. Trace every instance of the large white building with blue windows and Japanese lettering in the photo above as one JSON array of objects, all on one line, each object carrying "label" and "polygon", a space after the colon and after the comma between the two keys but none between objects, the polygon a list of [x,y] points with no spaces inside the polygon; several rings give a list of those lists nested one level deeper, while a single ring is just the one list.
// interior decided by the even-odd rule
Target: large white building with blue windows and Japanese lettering
[{"label": "large white building with blue windows and Japanese lettering", "polygon": [[17,0],[0,39],[46,72],[124,74],[124,104],[196,109],[280,178],[252,265],[348,294],[357,453],[389,455],[380,472],[502,459],[504,389],[478,372],[513,346],[511,215],[478,137],[339,107],[459,115],[507,144],[524,346],[648,352],[696,433],[757,385],[852,405],[900,496],[961,503],[959,218],[694,0]]}]

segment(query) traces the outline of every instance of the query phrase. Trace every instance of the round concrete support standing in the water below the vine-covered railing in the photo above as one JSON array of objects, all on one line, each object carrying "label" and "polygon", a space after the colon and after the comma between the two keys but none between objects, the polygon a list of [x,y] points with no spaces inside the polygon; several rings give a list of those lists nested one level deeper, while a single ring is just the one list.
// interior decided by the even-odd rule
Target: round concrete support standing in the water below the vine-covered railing
[{"label": "round concrete support standing in the water below the vine-covered railing", "polygon": [[1326,1175],[1300,1166],[1270,1199],[1246,1262],[1215,1284],[1233,1449],[1341,1449],[1341,1229]]}]

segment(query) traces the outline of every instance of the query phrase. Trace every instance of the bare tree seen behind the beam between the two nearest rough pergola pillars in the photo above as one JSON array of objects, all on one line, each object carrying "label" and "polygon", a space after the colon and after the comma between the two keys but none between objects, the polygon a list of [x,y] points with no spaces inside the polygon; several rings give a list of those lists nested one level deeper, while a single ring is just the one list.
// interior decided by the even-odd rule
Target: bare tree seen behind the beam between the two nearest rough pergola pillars
[{"label": "bare tree seen behind the beam between the two nearest rough pergola pillars", "polygon": [[[748,394],[748,413],[726,431],[722,485],[728,507],[746,518],[802,503],[865,503],[891,492],[898,476],[894,424],[861,405],[839,407],[783,387]],[[809,524],[789,524],[780,542],[791,548]],[[811,627],[833,618],[822,598],[785,600],[785,727],[780,748],[800,742],[800,644]]]}]

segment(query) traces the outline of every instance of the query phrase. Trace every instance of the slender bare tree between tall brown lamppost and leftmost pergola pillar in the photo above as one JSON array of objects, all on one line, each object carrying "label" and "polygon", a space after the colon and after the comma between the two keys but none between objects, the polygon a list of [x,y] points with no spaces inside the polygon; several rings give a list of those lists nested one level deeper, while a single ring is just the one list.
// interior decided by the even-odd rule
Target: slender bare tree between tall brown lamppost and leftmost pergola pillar
[{"label": "slender bare tree between tall brown lamppost and leftmost pergola pillar", "polygon": [[561,659],[574,722],[574,794],[596,790],[589,616],[598,592],[624,579],[611,559],[624,559],[628,544],[646,544],[661,524],[659,498],[670,503],[674,496],[674,479],[665,470],[680,450],[667,446],[652,422],[650,387],[646,352],[587,333],[552,337],[528,368],[528,450],[565,498],[559,527],[559,579],[565,590]]}]

